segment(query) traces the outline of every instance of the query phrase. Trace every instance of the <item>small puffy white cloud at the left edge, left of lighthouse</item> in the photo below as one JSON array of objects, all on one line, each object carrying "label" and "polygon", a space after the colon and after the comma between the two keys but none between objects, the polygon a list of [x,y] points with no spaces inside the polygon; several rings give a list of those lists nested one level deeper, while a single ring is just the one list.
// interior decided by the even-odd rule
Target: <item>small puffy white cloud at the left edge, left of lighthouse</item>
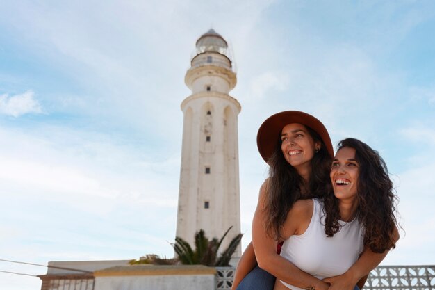
[{"label": "small puffy white cloud at the left edge, left of lighthouse", "polygon": [[0,113],[19,117],[28,113],[42,113],[42,107],[32,90],[19,95],[0,95]]}]

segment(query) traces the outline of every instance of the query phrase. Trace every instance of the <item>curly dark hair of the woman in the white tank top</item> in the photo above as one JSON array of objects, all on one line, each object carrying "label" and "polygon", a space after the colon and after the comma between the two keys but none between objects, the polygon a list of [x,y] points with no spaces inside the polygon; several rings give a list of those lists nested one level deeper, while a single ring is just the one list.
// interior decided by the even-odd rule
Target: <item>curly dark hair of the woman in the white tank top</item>
[{"label": "curly dark hair of the woman in the white tank top", "polygon": [[[364,245],[373,252],[395,248],[397,195],[384,159],[366,143],[355,138],[340,141],[338,151],[343,147],[353,148],[355,159],[359,163],[357,211],[359,223],[364,229]],[[338,199],[329,191],[323,200],[325,233],[327,236],[334,236],[340,230]]]}]

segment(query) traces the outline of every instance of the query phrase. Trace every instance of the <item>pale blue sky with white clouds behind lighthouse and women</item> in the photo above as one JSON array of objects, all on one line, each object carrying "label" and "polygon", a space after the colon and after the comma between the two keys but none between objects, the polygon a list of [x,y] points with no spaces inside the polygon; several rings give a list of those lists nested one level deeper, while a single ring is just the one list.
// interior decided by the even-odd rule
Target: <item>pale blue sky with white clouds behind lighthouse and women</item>
[{"label": "pale blue sky with white clouds behind lighthouse and women", "polygon": [[[433,1],[0,1],[0,259],[172,257],[183,83],[211,27],[238,84],[243,247],[272,113],[379,150],[406,230],[384,264],[435,263]],[[45,268],[0,262],[1,271]],[[0,273],[1,289],[39,289]]]}]

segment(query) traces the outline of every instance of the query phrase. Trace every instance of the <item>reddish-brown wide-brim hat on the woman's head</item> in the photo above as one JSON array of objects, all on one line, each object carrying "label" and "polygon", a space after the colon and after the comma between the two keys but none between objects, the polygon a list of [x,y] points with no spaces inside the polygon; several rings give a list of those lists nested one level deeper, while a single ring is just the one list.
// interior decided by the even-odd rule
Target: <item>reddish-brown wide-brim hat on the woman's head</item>
[{"label": "reddish-brown wide-brim hat on the woman's head", "polygon": [[266,163],[272,156],[275,147],[277,146],[282,129],[286,125],[292,123],[303,124],[304,126],[310,127],[316,131],[320,138],[322,138],[323,143],[325,143],[329,155],[334,157],[334,148],[332,147],[331,138],[329,137],[328,131],[322,122],[312,115],[304,112],[284,111],[271,115],[263,122],[263,124],[261,124],[260,129],[258,129],[258,151]]}]

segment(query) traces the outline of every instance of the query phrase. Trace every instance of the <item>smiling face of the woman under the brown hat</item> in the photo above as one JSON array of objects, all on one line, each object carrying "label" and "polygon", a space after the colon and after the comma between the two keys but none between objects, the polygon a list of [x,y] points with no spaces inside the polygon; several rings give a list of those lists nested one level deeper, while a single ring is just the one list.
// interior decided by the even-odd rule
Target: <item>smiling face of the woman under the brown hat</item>
[{"label": "smiling face of the woman under the brown hat", "polygon": [[299,123],[286,125],[281,131],[281,151],[284,159],[293,166],[299,175],[311,170],[311,159],[320,143],[314,142],[306,127]]}]

